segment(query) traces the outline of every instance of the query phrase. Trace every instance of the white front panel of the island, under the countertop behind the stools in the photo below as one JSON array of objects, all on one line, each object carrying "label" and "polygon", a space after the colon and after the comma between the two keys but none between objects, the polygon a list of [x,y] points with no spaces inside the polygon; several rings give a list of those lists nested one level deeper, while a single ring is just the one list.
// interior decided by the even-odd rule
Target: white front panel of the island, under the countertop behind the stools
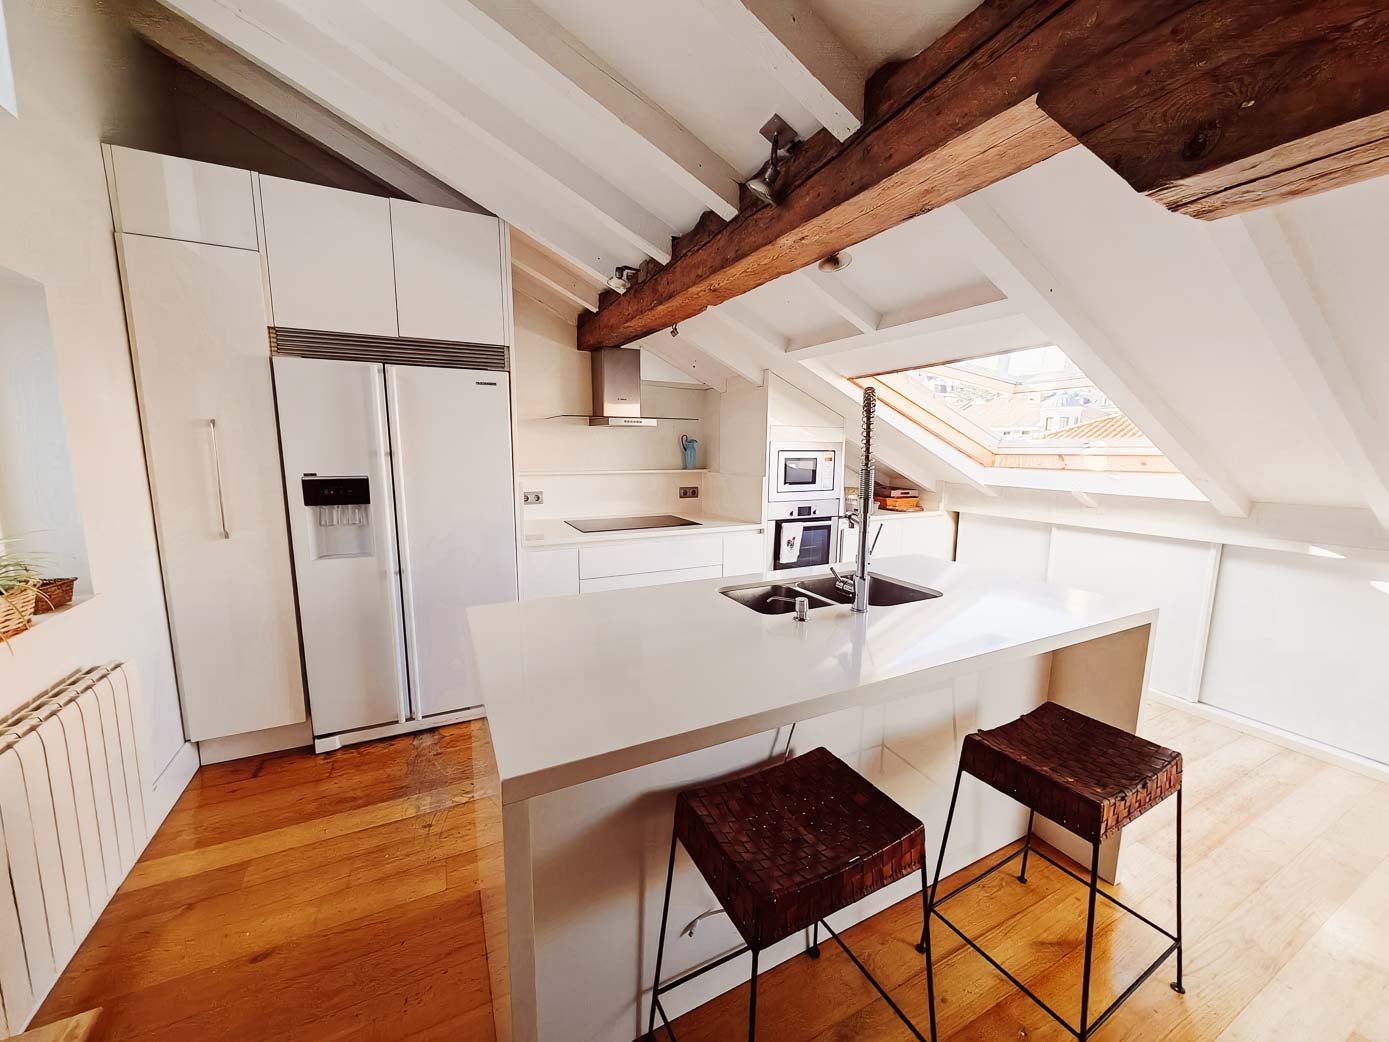
[{"label": "white front panel of the island, under the countertop behind the stools", "polygon": [[[1050,672],[1050,656],[1033,656],[922,685],[886,703],[801,721],[792,753],[826,746],[921,817],[933,873],[964,735],[1039,706]],[[531,864],[529,871],[508,866],[507,881],[524,885],[533,899],[529,917],[515,907],[508,916],[515,1042],[631,1042],[646,1031],[675,793],[781,760],[789,732],[789,727],[767,731],[515,804],[529,807],[524,828]],[[510,824],[508,817],[508,861],[521,847],[513,843]],[[983,785],[965,785],[945,871],[1018,839],[1025,827],[1026,813],[1013,800]],[[843,929],[899,900],[917,899],[920,885],[913,874],[831,923]],[[701,920],[693,938],[682,932],[715,907],[699,871],[678,850],[667,979],[742,943],[722,914]],[[525,935],[517,935],[518,921]],[[761,954],[760,967],[795,957],[807,941],[785,939]],[[522,1000],[525,963],[533,964],[533,974],[525,982],[531,995]],[[746,984],[747,973],[749,960],[736,959],[668,993],[663,1004],[675,1017]],[[519,1009],[531,1002],[529,1013]]]}]

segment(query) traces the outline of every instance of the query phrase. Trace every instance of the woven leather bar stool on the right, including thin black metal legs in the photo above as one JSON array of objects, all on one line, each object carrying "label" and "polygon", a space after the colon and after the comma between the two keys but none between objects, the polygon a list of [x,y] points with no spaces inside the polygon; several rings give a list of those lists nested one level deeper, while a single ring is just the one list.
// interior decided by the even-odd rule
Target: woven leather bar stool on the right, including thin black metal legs
[{"label": "woven leather bar stool on the right, including thin black metal legs", "polygon": [[[960,797],[960,778],[967,772],[999,792],[1007,793],[1029,809],[1028,835],[1021,850],[938,900],[935,889],[940,886],[940,870],[946,856],[945,845],[950,842],[950,824],[954,820],[956,800]],[[1176,793],[1175,934],[1157,925],[1153,920],[1135,911],[1099,886],[1100,843],[1118,832],[1124,825],[1146,814],[1172,793]],[[1038,814],[1050,818],[1082,839],[1090,841],[1089,879],[1058,864],[1045,852],[1032,849],[1032,824]],[[1072,879],[1088,884],[1090,888],[1089,916],[1085,925],[1085,970],[1081,978],[1079,1028],[1072,1027],[1060,1013],[1042,1002],[1022,981],[1004,970],[988,952],[965,936],[957,925],[940,913],[940,906],[947,900],[999,871],[1017,857],[1022,859],[1022,870],[1018,874],[1018,879],[1025,884],[1028,881],[1028,857],[1031,854],[1036,854]],[[1124,909],[1124,911],[1142,920],[1171,941],[1171,945],[1108,1009],[1090,1020],[1090,964],[1095,954],[1096,896],[1113,902]],[[940,861],[936,864],[936,886],[932,888],[931,893],[922,946],[929,945],[932,914],[958,934],[995,970],[1007,977],[1024,995],[1046,1010],[1061,1027],[1081,1039],[1081,1042],[1092,1038],[1104,1021],[1174,952],[1176,953],[1176,979],[1172,982],[1172,991],[1185,993],[1186,989],[1182,986],[1182,754],[1145,741],[1138,735],[1131,735],[1128,731],[1101,724],[1064,706],[1057,706],[1053,702],[1043,703],[1011,724],[968,735],[964,739],[964,747],[960,753],[960,768],[956,771],[954,793],[950,796],[950,813],[946,816],[946,834],[942,838]]]}]

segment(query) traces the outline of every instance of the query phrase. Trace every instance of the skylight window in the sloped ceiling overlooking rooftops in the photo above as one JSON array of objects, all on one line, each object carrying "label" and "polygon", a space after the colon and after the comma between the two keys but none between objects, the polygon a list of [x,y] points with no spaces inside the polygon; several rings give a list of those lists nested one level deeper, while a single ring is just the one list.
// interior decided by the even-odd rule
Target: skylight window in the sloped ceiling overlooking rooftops
[{"label": "skylight window in the sloped ceiling overlooking rooftops", "polygon": [[860,377],[882,402],[985,467],[1174,474],[1060,347]]}]

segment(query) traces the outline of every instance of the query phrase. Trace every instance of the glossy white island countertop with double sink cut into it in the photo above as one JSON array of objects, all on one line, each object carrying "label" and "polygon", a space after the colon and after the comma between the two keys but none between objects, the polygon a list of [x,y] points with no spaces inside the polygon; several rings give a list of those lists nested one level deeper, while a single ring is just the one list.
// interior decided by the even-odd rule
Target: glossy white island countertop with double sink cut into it
[{"label": "glossy white island countertop with double sink cut into it", "polygon": [[720,593],[745,577],[471,609],[503,802],[1157,621],[1146,603],[933,557],[872,571],[943,596],[867,615],[824,607],[796,622]]}]

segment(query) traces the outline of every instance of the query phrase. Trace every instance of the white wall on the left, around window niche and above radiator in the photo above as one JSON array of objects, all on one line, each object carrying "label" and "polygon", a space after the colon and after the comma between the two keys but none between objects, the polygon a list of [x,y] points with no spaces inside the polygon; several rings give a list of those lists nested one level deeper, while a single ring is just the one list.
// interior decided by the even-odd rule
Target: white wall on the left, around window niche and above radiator
[{"label": "white wall on the left, around window niche and above radiator", "polygon": [[97,596],[0,653],[0,711],[79,665],[139,671],[156,775],[183,747],[131,378],[103,140],[169,151],[163,60],[108,6],[4,0],[19,97],[0,111],[0,268],[43,285]]}]

